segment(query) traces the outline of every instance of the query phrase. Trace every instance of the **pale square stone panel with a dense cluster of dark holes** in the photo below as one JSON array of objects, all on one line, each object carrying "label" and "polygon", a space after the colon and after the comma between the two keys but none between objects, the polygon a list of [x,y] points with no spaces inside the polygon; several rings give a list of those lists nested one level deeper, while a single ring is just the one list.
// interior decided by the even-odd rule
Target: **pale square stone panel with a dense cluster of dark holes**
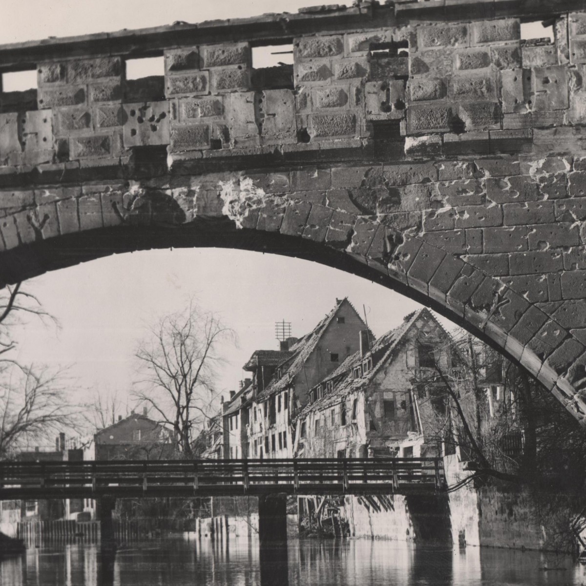
[{"label": "pale square stone panel with a dense cluster of dark holes", "polygon": [[169,103],[124,104],[125,122],[122,127],[124,147],[168,145]]}]

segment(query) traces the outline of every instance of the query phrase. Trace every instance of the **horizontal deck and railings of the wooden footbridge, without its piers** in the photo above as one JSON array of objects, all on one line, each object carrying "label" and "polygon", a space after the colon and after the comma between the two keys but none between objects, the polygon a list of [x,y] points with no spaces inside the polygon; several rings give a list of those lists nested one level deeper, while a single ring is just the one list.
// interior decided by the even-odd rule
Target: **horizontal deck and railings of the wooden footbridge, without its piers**
[{"label": "horizontal deck and railings of the wooden footbridge, without its piers", "polygon": [[0,500],[406,495],[443,487],[441,458],[0,462]]}]

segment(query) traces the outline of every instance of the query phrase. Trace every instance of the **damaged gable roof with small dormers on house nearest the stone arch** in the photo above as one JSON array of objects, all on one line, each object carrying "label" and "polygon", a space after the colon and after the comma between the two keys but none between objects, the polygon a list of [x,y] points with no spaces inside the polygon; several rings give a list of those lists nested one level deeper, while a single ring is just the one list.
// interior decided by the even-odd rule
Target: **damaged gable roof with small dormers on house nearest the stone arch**
[{"label": "damaged gable roof with small dormers on house nearest the stone arch", "polygon": [[[329,374],[329,376],[327,376],[321,381],[321,383],[319,383],[324,384],[330,380],[335,381],[331,393],[328,393],[327,395],[319,398],[318,400],[314,401],[314,403],[306,404],[306,406],[301,411],[299,411],[296,419],[304,419],[307,417],[307,415],[309,415],[309,413],[312,413],[313,411],[322,411],[328,407],[332,407],[340,403],[343,397],[346,397],[348,394],[367,386],[370,381],[372,381],[376,373],[379,372],[381,367],[393,357],[393,353],[404,339],[406,333],[422,316],[425,318],[431,318],[432,321],[434,321],[435,324],[441,329],[442,333],[449,335],[447,332],[445,332],[444,328],[442,328],[441,324],[427,308],[418,309],[417,311],[413,312],[413,314],[408,315],[408,319],[405,319],[400,326],[397,326],[397,328],[391,329],[384,333],[373,343],[372,349],[365,353],[364,356],[360,356],[360,352],[355,352],[353,355],[348,356],[334,372]],[[370,370],[369,373],[367,373],[365,376],[354,379],[354,368],[369,358],[373,359],[372,370]],[[317,386],[319,385],[312,387],[312,390]]]}]

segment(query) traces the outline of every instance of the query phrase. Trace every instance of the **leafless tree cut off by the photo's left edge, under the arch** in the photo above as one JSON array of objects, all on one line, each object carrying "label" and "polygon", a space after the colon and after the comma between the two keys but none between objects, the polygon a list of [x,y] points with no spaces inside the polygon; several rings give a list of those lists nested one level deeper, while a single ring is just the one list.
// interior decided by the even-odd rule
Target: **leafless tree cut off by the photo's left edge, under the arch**
[{"label": "leafless tree cut off by the photo's left edge, under the arch", "polygon": [[47,440],[75,419],[64,370],[23,364],[15,357],[15,328],[27,315],[56,323],[20,283],[0,291],[0,459]]}]

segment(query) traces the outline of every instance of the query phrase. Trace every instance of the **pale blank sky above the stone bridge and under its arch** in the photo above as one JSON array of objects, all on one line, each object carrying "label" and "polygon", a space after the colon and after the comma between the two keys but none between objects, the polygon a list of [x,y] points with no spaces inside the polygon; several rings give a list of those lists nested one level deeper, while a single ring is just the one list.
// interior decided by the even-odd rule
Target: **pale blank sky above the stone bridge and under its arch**
[{"label": "pale blank sky above the stone bridge and under its arch", "polygon": [[[308,4],[311,0],[5,0],[0,42],[295,12]],[[209,248],[115,255],[51,272],[26,287],[62,328],[29,325],[21,357],[73,364],[76,386],[122,392],[131,387],[132,356],[143,325],[182,308],[190,295],[219,312],[239,335],[239,348],[226,349],[229,364],[217,381],[224,393],[237,387],[241,366],[255,349],[278,347],[275,321],[292,322],[293,335],[301,336],[336,297],[348,296],[361,312],[366,306],[369,326],[380,335],[418,307],[380,285],[319,264]]]}]

